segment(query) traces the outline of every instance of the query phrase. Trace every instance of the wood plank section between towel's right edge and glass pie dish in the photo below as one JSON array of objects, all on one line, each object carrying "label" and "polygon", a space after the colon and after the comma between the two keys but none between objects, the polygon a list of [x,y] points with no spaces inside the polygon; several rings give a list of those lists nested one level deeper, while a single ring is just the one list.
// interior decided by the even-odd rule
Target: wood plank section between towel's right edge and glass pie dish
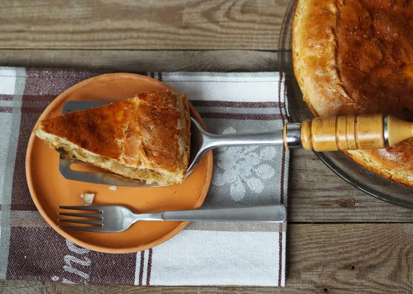
[{"label": "wood plank section between towel's right edge and glass pie dish", "polygon": [[354,188],[313,152],[295,149],[292,153],[288,222],[413,222],[412,209]]}]

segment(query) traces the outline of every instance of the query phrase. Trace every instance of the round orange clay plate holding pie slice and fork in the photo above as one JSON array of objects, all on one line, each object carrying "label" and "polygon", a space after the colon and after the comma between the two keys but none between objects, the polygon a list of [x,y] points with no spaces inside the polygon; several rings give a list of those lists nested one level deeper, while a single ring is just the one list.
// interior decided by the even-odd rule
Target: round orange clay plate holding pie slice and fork
[{"label": "round orange clay plate holding pie slice and fork", "polygon": [[[138,74],[104,74],[89,78],[60,94],[41,114],[39,120],[61,114],[67,101],[117,102],[139,92],[173,90],[168,85]],[[191,107],[192,115],[200,120]],[[197,117],[198,116],[198,117]],[[139,213],[198,209],[207,196],[212,176],[212,153],[180,185],[136,188],[66,180],[59,173],[59,154],[32,134],[26,154],[26,175],[34,204],[50,226],[64,238],[87,249],[105,253],[131,253],[165,242],[187,226],[188,222],[137,222],[121,233],[93,233],[57,227],[59,205],[80,205],[81,194],[95,193],[93,204],[120,204]]]}]

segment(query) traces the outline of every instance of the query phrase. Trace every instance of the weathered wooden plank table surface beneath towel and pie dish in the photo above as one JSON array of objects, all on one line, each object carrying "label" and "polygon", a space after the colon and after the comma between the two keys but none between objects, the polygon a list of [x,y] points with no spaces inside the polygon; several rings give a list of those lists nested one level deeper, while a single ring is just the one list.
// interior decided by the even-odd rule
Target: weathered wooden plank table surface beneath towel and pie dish
[{"label": "weathered wooden plank table surface beneath towel and pie dish", "polygon": [[[288,0],[0,1],[0,65],[277,71]],[[0,293],[412,293],[413,210],[368,196],[295,150],[286,288],[3,281]],[[413,196],[412,196],[413,197]]]}]

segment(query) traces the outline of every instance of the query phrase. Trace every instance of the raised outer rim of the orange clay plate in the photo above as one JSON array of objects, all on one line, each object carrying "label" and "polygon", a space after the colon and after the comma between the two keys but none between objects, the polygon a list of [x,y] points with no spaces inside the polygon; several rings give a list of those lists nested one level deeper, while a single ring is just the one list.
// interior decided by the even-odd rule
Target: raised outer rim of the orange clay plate
[{"label": "raised outer rim of the orange clay plate", "polygon": [[[85,80],[78,82],[71,87],[68,87],[66,90],[61,92],[54,100],[47,105],[47,107],[43,110],[39,118],[36,120],[36,123],[34,124],[34,127],[32,129],[32,132],[30,134],[30,138],[28,140],[28,147],[26,148],[25,151],[25,176],[28,184],[28,189],[30,191],[30,197],[32,198],[32,201],[34,202],[34,205],[36,206],[36,209],[38,209],[39,213],[41,214],[42,218],[49,224],[56,233],[59,233],[59,235],[63,236],[63,238],[66,238],[67,240],[70,240],[74,244],[77,244],[78,246],[83,246],[86,249],[90,249],[93,251],[98,251],[102,253],[136,253],[138,251],[143,251],[149,248],[152,248],[154,246],[158,246],[159,244],[162,244],[163,242],[166,242],[167,240],[173,238],[175,235],[177,235],[180,231],[182,231],[189,222],[180,222],[178,226],[176,226],[174,229],[166,233],[165,235],[162,235],[160,238],[157,238],[151,242],[146,242],[144,244],[139,244],[136,246],[127,246],[127,247],[122,247],[122,248],[116,248],[116,247],[108,247],[108,246],[101,246],[101,245],[96,245],[96,244],[90,244],[88,242],[85,242],[83,240],[79,240],[78,238],[72,236],[70,233],[65,231],[64,229],[60,228],[57,226],[57,224],[50,218],[45,209],[43,209],[43,206],[41,202],[39,201],[39,198],[36,196],[36,193],[34,191],[34,182],[30,173],[30,168],[31,168],[31,158],[32,158],[32,151],[33,151],[33,145],[34,145],[34,140],[36,140],[36,136],[33,134],[33,130],[38,125],[39,121],[44,119],[47,114],[50,112],[50,109],[54,109],[54,107],[58,106],[61,103],[61,100],[66,96],[67,93],[79,90],[83,85],[87,83],[93,83],[96,82],[95,80],[99,80],[101,78],[107,78],[107,77],[112,77],[114,76],[115,78],[118,77],[126,77],[126,78],[143,78],[144,80],[151,81],[151,83],[158,83],[162,85],[163,87],[169,88],[169,90],[177,91],[173,87],[162,83],[162,81],[158,81],[155,78],[151,78],[149,76],[143,76],[141,74],[133,74],[133,73],[127,73],[127,72],[117,72],[117,73],[109,73],[109,74],[99,74],[98,76],[92,76],[91,78],[86,78]],[[178,91],[177,91],[178,92]],[[200,119],[200,123],[204,129],[206,129],[206,126],[204,124],[204,121],[202,120],[200,114],[198,111],[193,107],[193,105],[188,101],[189,108],[191,109],[191,112],[195,114],[197,119]],[[213,175],[213,153],[212,150],[208,151],[207,154],[204,156],[207,156],[207,178],[205,180],[205,185],[202,188],[202,191],[200,192],[200,197],[198,198],[197,202],[193,205],[194,209],[199,209],[202,204],[204,203],[205,199],[207,198],[207,194],[209,191],[209,188],[211,187],[211,181],[212,181],[212,175]],[[59,172],[59,171],[58,171]]]}]

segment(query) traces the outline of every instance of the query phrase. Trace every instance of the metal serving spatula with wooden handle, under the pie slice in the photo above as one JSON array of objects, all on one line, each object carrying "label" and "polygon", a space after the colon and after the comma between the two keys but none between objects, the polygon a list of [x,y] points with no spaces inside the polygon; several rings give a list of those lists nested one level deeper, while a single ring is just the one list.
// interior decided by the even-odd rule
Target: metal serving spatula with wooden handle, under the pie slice
[{"label": "metal serving spatula with wooden handle, under the pie slice", "polygon": [[[104,104],[106,103],[69,101],[63,105],[63,114]],[[285,145],[287,149],[302,146],[304,149],[315,151],[380,149],[396,145],[412,136],[413,123],[382,114],[314,118],[305,120],[303,123],[286,123],[284,129],[274,132],[225,135],[206,132],[198,121],[191,118],[191,155],[187,176],[195,169],[207,151],[218,147]],[[79,160],[61,156],[59,169],[64,178],[127,187],[162,186],[156,183],[147,185],[140,180],[116,174],[76,171],[71,169],[74,163],[85,164]]]}]

